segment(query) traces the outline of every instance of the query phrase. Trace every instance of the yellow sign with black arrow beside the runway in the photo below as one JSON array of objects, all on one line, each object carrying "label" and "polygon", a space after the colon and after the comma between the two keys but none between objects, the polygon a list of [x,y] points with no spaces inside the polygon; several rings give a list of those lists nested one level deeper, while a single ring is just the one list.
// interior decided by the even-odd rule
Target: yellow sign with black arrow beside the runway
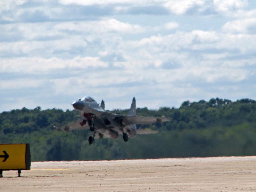
[{"label": "yellow sign with black arrow beside the runway", "polygon": [[29,144],[0,144],[0,170],[30,170]]}]

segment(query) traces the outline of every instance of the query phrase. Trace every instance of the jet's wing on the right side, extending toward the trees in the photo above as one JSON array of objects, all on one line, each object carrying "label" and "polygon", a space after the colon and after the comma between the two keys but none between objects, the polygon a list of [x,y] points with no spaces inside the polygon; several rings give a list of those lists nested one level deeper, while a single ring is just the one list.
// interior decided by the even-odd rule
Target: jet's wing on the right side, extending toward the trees
[{"label": "jet's wing on the right side, extending toward the trees", "polygon": [[156,117],[142,117],[142,116],[116,116],[114,121],[120,121],[127,125],[132,124],[153,124],[155,122],[162,123],[165,121],[169,121],[166,118],[156,118]]}]

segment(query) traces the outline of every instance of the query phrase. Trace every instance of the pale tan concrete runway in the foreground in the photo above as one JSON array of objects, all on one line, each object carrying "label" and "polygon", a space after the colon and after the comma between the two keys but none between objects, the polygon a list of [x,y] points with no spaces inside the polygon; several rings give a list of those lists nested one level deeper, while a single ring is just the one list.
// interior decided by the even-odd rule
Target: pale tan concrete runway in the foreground
[{"label": "pale tan concrete runway in the foreground", "polygon": [[256,192],[256,156],[32,162],[3,175],[1,192]]}]

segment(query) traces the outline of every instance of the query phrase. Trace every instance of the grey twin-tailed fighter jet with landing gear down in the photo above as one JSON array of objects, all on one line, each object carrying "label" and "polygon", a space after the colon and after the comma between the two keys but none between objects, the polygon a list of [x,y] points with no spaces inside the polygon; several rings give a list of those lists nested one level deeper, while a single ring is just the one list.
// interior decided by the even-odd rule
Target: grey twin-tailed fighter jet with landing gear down
[{"label": "grey twin-tailed fighter jet with landing gear down", "polygon": [[92,144],[94,139],[98,138],[116,139],[119,135],[122,135],[124,141],[127,142],[129,137],[135,137],[136,134],[155,134],[158,131],[137,128],[136,124],[152,124],[168,121],[166,118],[136,116],[135,97],[132,99],[128,115],[107,112],[105,111],[104,100],[98,104],[90,96],[78,99],[73,102],[72,106],[81,112],[82,118],[60,129],[65,131],[90,129],[93,134],[88,138],[89,144]]}]

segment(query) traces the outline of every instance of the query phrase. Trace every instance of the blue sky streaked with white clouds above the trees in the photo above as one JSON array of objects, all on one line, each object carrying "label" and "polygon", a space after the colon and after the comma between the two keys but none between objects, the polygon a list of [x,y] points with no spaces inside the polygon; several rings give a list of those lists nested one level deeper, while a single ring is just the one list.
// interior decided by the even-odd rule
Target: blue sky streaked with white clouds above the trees
[{"label": "blue sky streaked with white clouds above the trees", "polygon": [[1,0],[0,112],[256,99],[255,0]]}]

